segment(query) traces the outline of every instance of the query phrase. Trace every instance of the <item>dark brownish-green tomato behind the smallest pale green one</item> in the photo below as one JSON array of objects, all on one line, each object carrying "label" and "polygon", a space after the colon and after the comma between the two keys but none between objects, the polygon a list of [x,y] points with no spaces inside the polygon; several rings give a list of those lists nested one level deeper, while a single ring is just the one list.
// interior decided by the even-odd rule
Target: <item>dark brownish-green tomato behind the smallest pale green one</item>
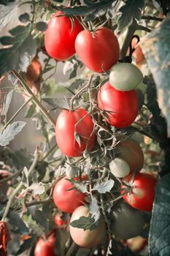
[{"label": "dark brownish-green tomato behind the smallest pale green one", "polygon": [[119,157],[122,157],[128,163],[131,173],[142,169],[144,165],[144,153],[136,140],[128,138],[120,142],[116,146],[116,149],[119,152]]}]

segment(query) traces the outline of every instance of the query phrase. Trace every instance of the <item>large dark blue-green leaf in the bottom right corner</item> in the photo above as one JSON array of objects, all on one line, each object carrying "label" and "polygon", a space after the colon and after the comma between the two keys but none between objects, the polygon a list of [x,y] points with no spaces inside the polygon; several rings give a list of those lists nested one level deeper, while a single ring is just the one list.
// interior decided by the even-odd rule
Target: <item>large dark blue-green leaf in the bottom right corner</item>
[{"label": "large dark blue-green leaf in the bottom right corner", "polygon": [[170,255],[170,173],[163,176],[155,188],[155,202],[150,224],[150,255]]}]

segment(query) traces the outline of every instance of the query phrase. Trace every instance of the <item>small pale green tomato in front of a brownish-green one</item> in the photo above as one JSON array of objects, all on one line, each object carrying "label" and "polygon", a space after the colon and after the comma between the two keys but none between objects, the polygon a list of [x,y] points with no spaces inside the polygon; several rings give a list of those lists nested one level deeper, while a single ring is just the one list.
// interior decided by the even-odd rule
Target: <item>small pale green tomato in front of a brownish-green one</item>
[{"label": "small pale green tomato in front of a brownish-green one", "polygon": [[117,178],[123,178],[130,173],[128,163],[121,157],[116,157],[109,163],[109,170]]}]

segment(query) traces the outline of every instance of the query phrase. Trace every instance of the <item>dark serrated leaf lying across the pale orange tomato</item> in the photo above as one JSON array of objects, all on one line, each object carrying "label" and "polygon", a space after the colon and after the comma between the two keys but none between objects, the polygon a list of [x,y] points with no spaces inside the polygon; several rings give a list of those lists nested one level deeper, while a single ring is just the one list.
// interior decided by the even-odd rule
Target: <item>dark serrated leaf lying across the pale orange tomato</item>
[{"label": "dark serrated leaf lying across the pale orange tomato", "polygon": [[69,225],[72,227],[82,228],[83,230],[93,230],[96,228],[96,224],[94,224],[95,219],[90,217],[82,216],[80,219],[76,219],[71,222]]}]

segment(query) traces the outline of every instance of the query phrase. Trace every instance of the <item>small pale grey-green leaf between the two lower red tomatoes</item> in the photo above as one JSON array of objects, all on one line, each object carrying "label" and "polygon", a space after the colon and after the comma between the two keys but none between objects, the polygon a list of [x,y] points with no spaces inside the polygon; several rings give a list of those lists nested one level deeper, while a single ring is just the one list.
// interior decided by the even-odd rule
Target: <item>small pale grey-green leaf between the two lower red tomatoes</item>
[{"label": "small pale grey-green leaf between the two lower red tomatoes", "polygon": [[104,194],[106,192],[109,192],[112,187],[114,186],[115,181],[110,179],[105,179],[104,181],[98,181],[96,184],[94,184],[92,190],[97,190],[99,193]]}]

